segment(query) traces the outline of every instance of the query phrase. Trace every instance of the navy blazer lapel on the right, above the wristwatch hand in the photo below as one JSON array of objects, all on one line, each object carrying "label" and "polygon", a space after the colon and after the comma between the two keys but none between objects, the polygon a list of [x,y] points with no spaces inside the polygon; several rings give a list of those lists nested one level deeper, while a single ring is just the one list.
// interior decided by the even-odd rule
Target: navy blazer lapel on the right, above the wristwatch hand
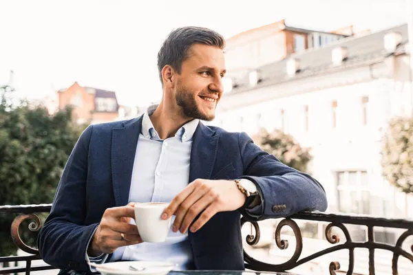
[{"label": "navy blazer lapel on the right, above the wristwatch hand", "polygon": [[193,134],[189,183],[195,179],[210,179],[218,149],[220,135],[201,122]]}]

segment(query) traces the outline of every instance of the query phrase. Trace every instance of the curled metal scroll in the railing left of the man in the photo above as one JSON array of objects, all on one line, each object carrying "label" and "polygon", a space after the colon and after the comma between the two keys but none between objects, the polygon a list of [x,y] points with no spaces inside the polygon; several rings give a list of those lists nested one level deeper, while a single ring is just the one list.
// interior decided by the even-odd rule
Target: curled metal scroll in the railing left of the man
[{"label": "curled metal scroll in the railing left of the man", "polygon": [[20,248],[24,252],[37,255],[37,254],[39,254],[39,250],[36,250],[34,248],[30,248],[28,245],[26,245],[21,240],[21,237],[20,237],[20,234],[19,234],[19,227],[20,227],[21,223],[23,221],[27,220],[27,219],[34,220],[28,226],[30,231],[36,232],[36,231],[40,230],[41,221],[40,221],[39,217],[36,216],[36,214],[21,214],[13,220],[12,226],[10,228],[10,234],[12,236],[13,242],[17,245],[18,248]]}]

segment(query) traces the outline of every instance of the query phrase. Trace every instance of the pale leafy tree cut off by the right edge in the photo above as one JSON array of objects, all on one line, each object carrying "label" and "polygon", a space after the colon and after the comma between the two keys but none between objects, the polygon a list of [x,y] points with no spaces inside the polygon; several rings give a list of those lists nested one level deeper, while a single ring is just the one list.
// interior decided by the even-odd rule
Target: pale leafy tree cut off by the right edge
[{"label": "pale leafy tree cut off by the right edge", "polygon": [[413,118],[390,121],[383,138],[383,175],[401,191],[413,193]]}]

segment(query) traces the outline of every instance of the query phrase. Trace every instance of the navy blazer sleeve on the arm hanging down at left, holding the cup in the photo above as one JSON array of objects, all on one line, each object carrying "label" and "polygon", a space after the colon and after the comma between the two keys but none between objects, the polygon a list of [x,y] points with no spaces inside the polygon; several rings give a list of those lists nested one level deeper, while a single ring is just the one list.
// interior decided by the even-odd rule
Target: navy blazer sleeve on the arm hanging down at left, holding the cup
[{"label": "navy blazer sleeve on the arm hanging down at left, holding the cup", "polygon": [[81,134],[70,154],[54,196],[52,210],[39,232],[37,245],[46,263],[63,269],[89,271],[88,240],[98,223],[85,225],[87,156],[93,126]]}]

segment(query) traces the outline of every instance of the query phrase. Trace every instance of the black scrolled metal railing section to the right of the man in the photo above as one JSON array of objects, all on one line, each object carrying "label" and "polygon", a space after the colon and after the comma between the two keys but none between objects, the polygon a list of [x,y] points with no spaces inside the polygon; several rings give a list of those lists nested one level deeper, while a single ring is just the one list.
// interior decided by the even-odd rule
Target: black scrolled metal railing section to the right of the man
[{"label": "black scrolled metal railing section to the right of the man", "polygon": [[[324,250],[311,254],[310,256],[306,256],[300,259],[301,252],[303,250],[303,238],[301,236],[301,230],[299,226],[297,225],[297,223],[295,223],[295,221],[293,221],[293,219],[327,222],[328,225],[325,229],[326,239],[329,243],[337,245],[334,245],[330,248],[326,248]],[[241,223],[242,225],[244,225],[244,223],[251,222],[246,221],[246,219],[242,218]],[[260,226],[256,222],[252,222],[252,224],[255,228],[255,236],[252,234],[246,236],[246,242],[249,245],[256,245],[260,241]],[[350,232],[344,224],[366,226],[368,230],[367,241],[352,241]],[[408,236],[413,236],[413,221],[408,221],[404,219],[383,219],[363,216],[346,216],[341,214],[324,214],[320,212],[301,212],[299,214],[295,214],[291,217],[283,219],[278,223],[277,228],[275,230],[275,243],[280,250],[286,250],[288,248],[288,241],[281,239],[281,230],[282,228],[284,228],[284,226],[290,227],[293,230],[293,234],[295,236],[296,245],[293,256],[291,256],[291,258],[285,263],[274,265],[269,263],[263,263],[262,261],[253,259],[253,257],[248,255],[248,253],[246,253],[244,250],[244,260],[246,262],[246,268],[251,270],[260,270],[268,272],[283,272],[286,270],[292,270],[293,268],[304,263],[308,263],[309,261],[319,258],[320,256],[330,254],[332,252],[336,252],[339,250],[348,250],[348,267],[346,269],[346,274],[350,275],[353,274],[354,270],[355,248],[366,248],[368,250],[368,272],[370,275],[375,274],[375,250],[388,250],[392,252],[393,275],[399,274],[399,256],[403,256],[405,257],[405,259],[410,260],[413,265],[413,254],[411,252],[403,250],[402,248],[405,239],[407,239]],[[374,241],[374,227],[399,228],[404,230],[404,232],[401,234],[401,236],[399,236],[399,239],[397,239],[395,245],[389,245],[386,243],[378,243]],[[332,234],[332,228],[339,228],[343,232],[344,236],[346,237],[346,241],[344,243],[338,244],[340,242],[339,236],[337,234]],[[410,249],[413,252],[413,245]],[[331,262],[329,266],[330,274],[335,275],[337,270],[340,270],[340,263],[338,261]]]}]

